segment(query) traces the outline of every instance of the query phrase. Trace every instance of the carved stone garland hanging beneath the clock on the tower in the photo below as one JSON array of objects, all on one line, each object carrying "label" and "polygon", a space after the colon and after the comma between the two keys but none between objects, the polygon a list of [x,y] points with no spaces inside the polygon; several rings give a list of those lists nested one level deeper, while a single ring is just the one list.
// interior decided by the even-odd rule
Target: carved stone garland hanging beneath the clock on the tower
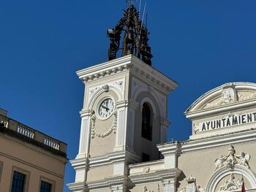
[{"label": "carved stone garland hanging beneath the clock on the tower", "polygon": [[117,112],[113,112],[114,115],[114,119],[113,119],[113,123],[112,126],[108,129],[108,131],[105,131],[104,133],[100,133],[99,131],[97,131],[97,129],[95,128],[95,122],[96,122],[96,115],[95,112],[91,112],[91,139],[94,139],[95,135],[97,137],[106,137],[109,134],[111,134],[112,132],[114,134],[116,134],[116,119],[117,119]]}]

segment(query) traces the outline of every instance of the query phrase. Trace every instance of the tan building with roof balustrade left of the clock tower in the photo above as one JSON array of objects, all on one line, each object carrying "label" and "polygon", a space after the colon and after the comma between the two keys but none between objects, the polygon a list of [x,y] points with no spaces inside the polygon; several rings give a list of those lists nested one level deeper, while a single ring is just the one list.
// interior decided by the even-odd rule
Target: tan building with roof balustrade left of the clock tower
[{"label": "tan building with roof balustrade left of the clock tower", "polygon": [[0,191],[61,192],[67,144],[0,110]]}]

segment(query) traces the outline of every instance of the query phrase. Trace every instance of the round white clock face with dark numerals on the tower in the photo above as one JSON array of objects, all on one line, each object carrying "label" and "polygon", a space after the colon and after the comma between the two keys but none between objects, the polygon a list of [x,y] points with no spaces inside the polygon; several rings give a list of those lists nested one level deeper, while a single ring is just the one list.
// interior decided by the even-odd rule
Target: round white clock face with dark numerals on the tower
[{"label": "round white clock face with dark numerals on the tower", "polygon": [[115,101],[111,96],[102,97],[97,104],[97,118],[101,120],[110,118],[113,115],[115,107]]}]

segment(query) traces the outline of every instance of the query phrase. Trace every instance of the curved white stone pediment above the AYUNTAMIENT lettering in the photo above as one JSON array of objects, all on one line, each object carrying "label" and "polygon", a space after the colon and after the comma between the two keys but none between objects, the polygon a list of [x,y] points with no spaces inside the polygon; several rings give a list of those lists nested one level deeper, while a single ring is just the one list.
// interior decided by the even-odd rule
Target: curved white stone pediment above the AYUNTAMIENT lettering
[{"label": "curved white stone pediment above the AYUNTAMIENT lettering", "polygon": [[[252,93],[243,96],[242,93]],[[219,98],[219,100],[217,100]],[[217,100],[217,101],[215,101]],[[215,101],[215,103],[214,103]],[[212,89],[200,96],[185,112],[189,119],[206,117],[221,112],[231,112],[256,105],[256,84],[231,82]]]}]

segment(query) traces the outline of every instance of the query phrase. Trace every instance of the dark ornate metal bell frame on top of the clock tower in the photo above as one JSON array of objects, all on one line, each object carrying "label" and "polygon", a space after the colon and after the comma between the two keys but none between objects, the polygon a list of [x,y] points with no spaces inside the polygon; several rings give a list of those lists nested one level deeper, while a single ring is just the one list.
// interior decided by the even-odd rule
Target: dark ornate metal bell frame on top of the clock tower
[{"label": "dark ornate metal bell frame on top of the clock tower", "polygon": [[[108,59],[119,56],[135,55],[151,66],[151,47],[148,46],[148,30],[140,20],[140,12],[133,4],[124,10],[124,16],[118,21],[115,28],[108,29],[110,48]],[[120,53],[118,53],[120,52]]]}]

